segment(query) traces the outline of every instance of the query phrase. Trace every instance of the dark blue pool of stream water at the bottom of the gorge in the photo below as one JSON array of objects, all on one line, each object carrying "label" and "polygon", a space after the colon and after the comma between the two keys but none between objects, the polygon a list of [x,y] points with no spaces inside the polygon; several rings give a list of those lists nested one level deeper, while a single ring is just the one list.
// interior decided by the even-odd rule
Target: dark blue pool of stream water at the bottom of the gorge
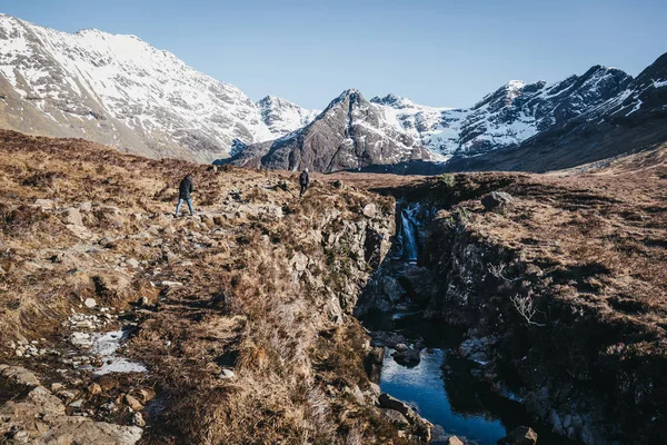
[{"label": "dark blue pool of stream water at the bottom of the gorge", "polygon": [[495,445],[514,428],[526,425],[538,434],[539,444],[571,444],[550,427],[536,422],[524,406],[508,394],[500,397],[472,377],[474,362],[451,354],[458,348],[462,333],[438,322],[425,320],[421,313],[374,314],[365,319],[371,330],[401,334],[408,342],[421,339],[425,348],[417,366],[394,360],[387,348],[380,373],[382,393],[414,406],[435,425],[434,444],[446,444],[450,435],[467,444]]}]

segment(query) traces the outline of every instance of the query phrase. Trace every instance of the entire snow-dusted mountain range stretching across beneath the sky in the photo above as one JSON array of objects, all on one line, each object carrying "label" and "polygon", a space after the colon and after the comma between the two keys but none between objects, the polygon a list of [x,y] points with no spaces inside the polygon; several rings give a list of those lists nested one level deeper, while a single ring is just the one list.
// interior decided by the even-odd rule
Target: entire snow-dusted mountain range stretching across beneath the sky
[{"label": "entire snow-dusted mountain range stretching across beneath the sky", "polygon": [[323,110],[241,90],[133,36],[0,14],[0,128],[199,162],[431,174],[571,167],[666,137],[666,58],[637,78],[595,66],[510,81],[471,108],[344,91]]}]

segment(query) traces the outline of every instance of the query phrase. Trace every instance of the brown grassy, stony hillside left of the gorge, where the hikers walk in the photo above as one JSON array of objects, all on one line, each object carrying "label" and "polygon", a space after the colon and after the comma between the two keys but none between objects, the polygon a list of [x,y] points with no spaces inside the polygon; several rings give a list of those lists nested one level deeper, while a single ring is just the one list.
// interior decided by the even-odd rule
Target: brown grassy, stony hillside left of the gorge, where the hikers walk
[{"label": "brown grassy, stony hillside left of the gorge, where the hikers walk", "polygon": [[[21,411],[52,392],[68,414],[148,423],[143,443],[397,439],[349,315],[387,253],[390,199],[315,180],[298,200],[286,175],[7,131],[0,168],[0,365],[44,385],[26,398],[0,376],[0,435],[62,436]],[[187,171],[197,217],[175,219]],[[96,338],[118,329],[104,358]]]}]

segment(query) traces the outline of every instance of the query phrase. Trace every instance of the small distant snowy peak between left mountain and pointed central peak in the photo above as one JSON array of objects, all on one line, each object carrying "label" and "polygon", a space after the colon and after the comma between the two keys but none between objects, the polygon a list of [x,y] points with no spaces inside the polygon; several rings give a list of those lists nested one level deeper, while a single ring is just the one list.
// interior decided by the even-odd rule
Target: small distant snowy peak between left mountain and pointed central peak
[{"label": "small distant snowy peak between left mountain and pointed central peak", "polygon": [[273,137],[281,137],[310,123],[321,110],[309,110],[289,100],[267,96],[257,102],[261,120]]}]

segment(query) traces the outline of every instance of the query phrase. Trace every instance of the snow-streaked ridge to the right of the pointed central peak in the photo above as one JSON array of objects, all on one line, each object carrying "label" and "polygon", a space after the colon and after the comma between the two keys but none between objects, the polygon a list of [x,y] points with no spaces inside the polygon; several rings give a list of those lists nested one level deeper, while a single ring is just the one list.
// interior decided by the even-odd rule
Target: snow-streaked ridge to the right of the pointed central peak
[{"label": "snow-streaked ridge to the right of the pointed central peak", "polygon": [[631,77],[615,68],[593,67],[548,86],[511,80],[469,109],[431,108],[389,95],[371,102],[392,109],[404,131],[424,147],[450,158],[477,156],[524,140],[616,97]]}]

